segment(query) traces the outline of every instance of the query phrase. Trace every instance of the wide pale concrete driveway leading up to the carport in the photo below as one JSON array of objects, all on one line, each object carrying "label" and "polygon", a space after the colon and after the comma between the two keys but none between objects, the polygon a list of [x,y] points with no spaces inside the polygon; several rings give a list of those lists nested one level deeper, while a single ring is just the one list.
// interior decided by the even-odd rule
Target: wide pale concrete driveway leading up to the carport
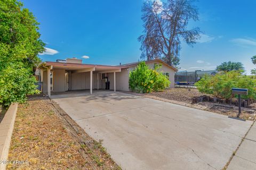
[{"label": "wide pale concrete driveway leading up to the carport", "polygon": [[121,92],[52,98],[123,169],[222,169],[252,124]]}]

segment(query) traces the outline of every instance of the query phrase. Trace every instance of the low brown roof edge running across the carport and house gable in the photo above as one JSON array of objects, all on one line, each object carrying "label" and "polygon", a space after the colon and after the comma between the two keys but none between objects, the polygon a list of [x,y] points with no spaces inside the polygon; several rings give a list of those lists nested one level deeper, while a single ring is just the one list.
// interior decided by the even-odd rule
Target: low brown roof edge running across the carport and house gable
[{"label": "low brown roof edge running across the carport and house gable", "polygon": [[[155,59],[150,61],[145,61],[146,63],[152,63],[152,62],[160,62],[165,64],[166,66],[170,67],[174,71],[178,71],[175,67],[165,63],[161,59]],[[64,63],[64,62],[43,62],[37,66],[37,68],[41,68],[43,66],[53,66],[54,69],[68,69],[68,70],[79,70],[79,69],[87,69],[87,68],[95,68],[95,71],[103,71],[103,70],[111,70],[111,69],[124,69],[129,68],[133,66],[137,66],[139,62],[135,63],[128,63],[123,65],[99,65],[99,64],[81,64],[81,63]]]}]

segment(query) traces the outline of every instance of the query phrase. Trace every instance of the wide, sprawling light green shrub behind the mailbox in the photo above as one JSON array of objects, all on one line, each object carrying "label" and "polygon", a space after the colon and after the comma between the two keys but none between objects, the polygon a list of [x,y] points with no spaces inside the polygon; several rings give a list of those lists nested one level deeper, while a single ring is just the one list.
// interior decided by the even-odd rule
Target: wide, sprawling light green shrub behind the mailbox
[{"label": "wide, sprawling light green shrub behind the mailbox", "polygon": [[246,88],[248,95],[242,95],[242,98],[256,99],[255,83],[254,77],[243,75],[241,71],[230,71],[220,72],[215,76],[204,75],[195,85],[200,92],[222,99],[235,97],[232,88]]}]

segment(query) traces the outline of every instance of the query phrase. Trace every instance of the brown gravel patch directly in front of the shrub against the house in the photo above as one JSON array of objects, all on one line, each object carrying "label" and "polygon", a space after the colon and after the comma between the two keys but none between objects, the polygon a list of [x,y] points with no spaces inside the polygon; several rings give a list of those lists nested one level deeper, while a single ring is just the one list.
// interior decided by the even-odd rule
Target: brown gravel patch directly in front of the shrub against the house
[{"label": "brown gravel patch directly in front of the shrub against the house", "polygon": [[202,94],[197,89],[171,88],[164,91],[152,92],[149,95],[170,99],[170,100],[183,101],[186,103],[192,103],[193,97],[200,97],[205,94]]}]

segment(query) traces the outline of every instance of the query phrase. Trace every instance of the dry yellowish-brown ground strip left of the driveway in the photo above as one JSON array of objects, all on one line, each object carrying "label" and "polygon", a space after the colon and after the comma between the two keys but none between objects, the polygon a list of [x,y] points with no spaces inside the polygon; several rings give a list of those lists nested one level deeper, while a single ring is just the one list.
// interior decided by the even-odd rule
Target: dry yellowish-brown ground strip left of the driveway
[{"label": "dry yellowish-brown ground strip left of the driveway", "polygon": [[71,129],[49,99],[30,97],[18,107],[8,158],[25,164],[8,164],[7,169],[120,169],[100,142],[80,132]]}]

